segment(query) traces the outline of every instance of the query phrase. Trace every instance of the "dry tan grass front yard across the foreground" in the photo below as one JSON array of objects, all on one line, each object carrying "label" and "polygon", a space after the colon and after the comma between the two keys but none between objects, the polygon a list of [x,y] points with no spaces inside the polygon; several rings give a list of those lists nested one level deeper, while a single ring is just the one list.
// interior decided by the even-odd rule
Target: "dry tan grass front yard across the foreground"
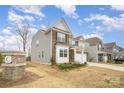
[{"label": "dry tan grass front yard across the foreground", "polygon": [[25,77],[18,81],[5,81],[0,75],[0,87],[124,88],[124,72],[92,66],[63,71],[46,64],[28,63]]}]

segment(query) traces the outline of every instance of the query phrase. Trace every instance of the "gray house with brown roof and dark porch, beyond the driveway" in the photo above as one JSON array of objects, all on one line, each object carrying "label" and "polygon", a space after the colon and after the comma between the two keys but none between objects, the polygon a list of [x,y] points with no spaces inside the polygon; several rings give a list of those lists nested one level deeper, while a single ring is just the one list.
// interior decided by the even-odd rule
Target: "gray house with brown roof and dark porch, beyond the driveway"
[{"label": "gray house with brown roof and dark porch, beyond the driveway", "polygon": [[97,37],[88,38],[85,42],[89,43],[87,46],[88,61],[107,62],[112,59],[112,53],[104,51],[104,45],[101,39]]}]

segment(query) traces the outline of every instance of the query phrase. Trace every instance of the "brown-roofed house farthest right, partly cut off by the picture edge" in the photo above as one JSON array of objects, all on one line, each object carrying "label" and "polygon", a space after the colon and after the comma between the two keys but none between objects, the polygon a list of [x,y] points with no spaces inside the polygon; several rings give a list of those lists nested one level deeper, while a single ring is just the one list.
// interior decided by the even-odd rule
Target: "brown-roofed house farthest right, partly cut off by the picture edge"
[{"label": "brown-roofed house farthest right, partly cut off by the picture edge", "polygon": [[[112,59],[118,59],[120,54],[123,54],[123,48],[118,46],[116,42],[105,43],[104,48],[106,52],[112,53]],[[121,56],[121,55],[120,55]]]}]

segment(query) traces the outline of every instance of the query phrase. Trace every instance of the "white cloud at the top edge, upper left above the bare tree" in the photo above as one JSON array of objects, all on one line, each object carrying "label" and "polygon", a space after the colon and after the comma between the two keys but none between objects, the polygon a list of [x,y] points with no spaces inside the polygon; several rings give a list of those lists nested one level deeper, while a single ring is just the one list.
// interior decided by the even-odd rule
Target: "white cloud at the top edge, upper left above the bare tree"
[{"label": "white cloud at the top edge, upper left above the bare tree", "polygon": [[17,10],[20,10],[21,12],[23,13],[28,13],[28,14],[34,14],[34,15],[37,15],[37,16],[40,16],[40,17],[45,17],[45,14],[42,13],[42,8],[44,6],[38,6],[38,5],[18,5],[18,6],[15,6],[15,8]]}]

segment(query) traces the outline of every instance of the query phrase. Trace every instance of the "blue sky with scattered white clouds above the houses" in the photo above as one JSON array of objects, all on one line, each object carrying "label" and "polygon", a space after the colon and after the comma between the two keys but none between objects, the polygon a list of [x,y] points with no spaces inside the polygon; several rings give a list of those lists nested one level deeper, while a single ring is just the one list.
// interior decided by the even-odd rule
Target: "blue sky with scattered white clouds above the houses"
[{"label": "blue sky with scattered white clouds above the houses", "polygon": [[63,17],[75,36],[99,37],[124,47],[124,6],[0,6],[0,48],[18,50],[22,45],[15,24],[31,24],[32,35]]}]

